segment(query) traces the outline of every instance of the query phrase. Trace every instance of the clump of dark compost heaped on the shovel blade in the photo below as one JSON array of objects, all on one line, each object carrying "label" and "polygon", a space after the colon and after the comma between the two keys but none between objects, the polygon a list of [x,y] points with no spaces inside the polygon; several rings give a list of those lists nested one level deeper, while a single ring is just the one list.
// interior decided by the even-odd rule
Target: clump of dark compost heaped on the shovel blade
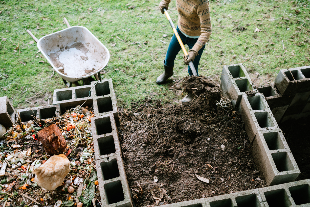
[{"label": "clump of dark compost heaped on the shovel blade", "polygon": [[221,90],[215,82],[201,75],[185,76],[182,82],[183,92],[193,93],[196,97],[202,96],[219,101]]}]

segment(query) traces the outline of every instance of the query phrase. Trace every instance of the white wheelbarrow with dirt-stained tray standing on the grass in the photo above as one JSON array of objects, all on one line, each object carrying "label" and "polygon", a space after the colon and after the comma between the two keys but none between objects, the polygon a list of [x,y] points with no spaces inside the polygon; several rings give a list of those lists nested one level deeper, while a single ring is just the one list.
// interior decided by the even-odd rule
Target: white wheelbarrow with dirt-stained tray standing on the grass
[{"label": "white wheelbarrow with dirt-stained tray standing on the grass", "polygon": [[66,18],[64,21],[68,28],[39,40],[28,29],[27,32],[66,86],[71,87],[72,83],[78,86],[77,81],[92,75],[101,80],[100,71],[110,59],[108,49],[86,27],[71,27]]}]

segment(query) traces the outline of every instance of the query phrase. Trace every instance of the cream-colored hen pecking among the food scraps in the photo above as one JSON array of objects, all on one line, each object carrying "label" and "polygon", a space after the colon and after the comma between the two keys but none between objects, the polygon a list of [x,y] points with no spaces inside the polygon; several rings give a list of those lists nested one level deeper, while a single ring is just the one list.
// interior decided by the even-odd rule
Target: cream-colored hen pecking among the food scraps
[{"label": "cream-colored hen pecking among the food scraps", "polygon": [[32,171],[35,182],[45,190],[55,190],[61,186],[70,172],[70,161],[64,154],[53,155],[40,167]]}]

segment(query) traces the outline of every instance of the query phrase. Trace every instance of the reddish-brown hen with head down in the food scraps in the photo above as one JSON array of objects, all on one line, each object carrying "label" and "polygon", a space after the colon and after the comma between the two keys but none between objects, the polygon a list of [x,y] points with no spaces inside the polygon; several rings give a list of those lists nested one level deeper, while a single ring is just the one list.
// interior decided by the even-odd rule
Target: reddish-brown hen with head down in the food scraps
[{"label": "reddish-brown hen with head down in the food scraps", "polygon": [[63,154],[67,146],[64,136],[56,124],[41,129],[35,138],[42,142],[45,151],[51,156]]}]

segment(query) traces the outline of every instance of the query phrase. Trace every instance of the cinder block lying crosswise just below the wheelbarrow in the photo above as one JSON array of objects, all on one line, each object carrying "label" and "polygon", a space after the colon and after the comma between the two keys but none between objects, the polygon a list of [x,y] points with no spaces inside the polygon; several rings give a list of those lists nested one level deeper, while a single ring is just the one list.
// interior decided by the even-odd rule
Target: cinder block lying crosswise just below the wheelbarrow
[{"label": "cinder block lying crosswise just below the wheelbarrow", "polygon": [[[84,104],[83,104],[84,103]],[[76,86],[71,88],[55,89],[53,94],[53,104],[60,105],[60,114],[78,105],[93,105],[91,86]]]}]

